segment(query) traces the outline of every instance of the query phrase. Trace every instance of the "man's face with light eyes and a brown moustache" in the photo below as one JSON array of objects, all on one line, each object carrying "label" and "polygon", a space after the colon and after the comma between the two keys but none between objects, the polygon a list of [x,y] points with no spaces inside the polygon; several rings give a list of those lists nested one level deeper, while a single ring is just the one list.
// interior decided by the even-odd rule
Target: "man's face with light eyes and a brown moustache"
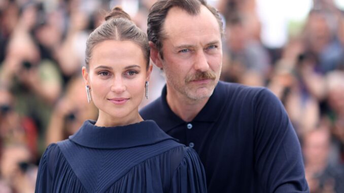
[{"label": "man's face with light eyes and a brown moustache", "polygon": [[167,93],[185,99],[209,98],[217,85],[222,65],[219,24],[204,6],[198,15],[174,7],[163,26],[162,68]]}]

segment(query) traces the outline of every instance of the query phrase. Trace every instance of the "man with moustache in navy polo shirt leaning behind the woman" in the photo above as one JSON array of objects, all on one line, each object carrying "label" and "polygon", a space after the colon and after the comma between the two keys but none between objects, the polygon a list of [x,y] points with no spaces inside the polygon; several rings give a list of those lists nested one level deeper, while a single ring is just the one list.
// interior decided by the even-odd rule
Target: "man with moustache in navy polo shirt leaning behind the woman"
[{"label": "man with moustache in navy polo shirt leaning behind the woman", "polygon": [[163,0],[148,16],[151,59],[166,74],[144,119],[194,148],[209,192],[308,192],[301,150],[267,89],[219,82],[222,22],[201,0]]}]

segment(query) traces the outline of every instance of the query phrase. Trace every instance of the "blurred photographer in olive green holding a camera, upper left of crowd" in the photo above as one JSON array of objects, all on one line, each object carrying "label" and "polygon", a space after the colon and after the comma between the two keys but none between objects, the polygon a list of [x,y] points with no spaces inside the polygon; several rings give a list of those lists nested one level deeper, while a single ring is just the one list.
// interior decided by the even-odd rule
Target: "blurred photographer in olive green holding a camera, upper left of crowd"
[{"label": "blurred photographer in olive green holding a camera, upper left of crowd", "polygon": [[16,109],[35,121],[43,135],[50,111],[62,90],[57,65],[42,60],[30,31],[35,23],[35,7],[23,8],[0,66],[0,82],[16,96]]}]

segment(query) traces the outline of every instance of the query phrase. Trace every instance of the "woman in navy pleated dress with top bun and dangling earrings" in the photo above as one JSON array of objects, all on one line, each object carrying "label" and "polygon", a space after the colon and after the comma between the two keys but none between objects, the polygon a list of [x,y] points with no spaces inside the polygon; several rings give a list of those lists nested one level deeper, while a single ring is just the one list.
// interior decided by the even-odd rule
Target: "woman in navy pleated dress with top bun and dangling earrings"
[{"label": "woman in navy pleated dress with top bun and dangling earrings", "polygon": [[105,19],[87,40],[82,68],[98,119],[48,146],[36,192],[206,192],[195,151],[138,112],[152,70],[146,34],[120,8]]}]

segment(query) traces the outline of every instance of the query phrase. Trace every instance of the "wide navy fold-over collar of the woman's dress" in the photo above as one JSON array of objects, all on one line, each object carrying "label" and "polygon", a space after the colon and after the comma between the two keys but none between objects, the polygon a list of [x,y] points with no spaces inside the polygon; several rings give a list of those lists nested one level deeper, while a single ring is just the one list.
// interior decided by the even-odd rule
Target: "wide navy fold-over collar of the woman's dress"
[{"label": "wide navy fold-over collar of the woman's dress", "polygon": [[70,136],[73,142],[91,148],[130,148],[155,144],[173,139],[163,132],[154,121],[118,127],[97,127],[95,121],[85,121],[79,131]]}]

